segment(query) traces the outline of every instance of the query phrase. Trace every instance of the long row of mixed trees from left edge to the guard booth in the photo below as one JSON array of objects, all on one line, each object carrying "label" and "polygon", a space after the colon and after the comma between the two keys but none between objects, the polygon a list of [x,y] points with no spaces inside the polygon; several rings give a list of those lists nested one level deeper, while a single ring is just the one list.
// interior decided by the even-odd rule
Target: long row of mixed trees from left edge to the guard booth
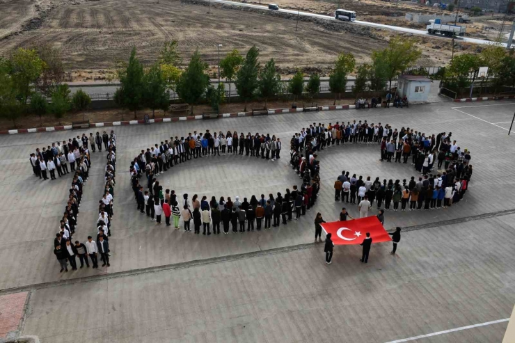
[{"label": "long row of mixed trees from left edge to the guard booth", "polygon": [[[236,49],[230,51],[220,61],[221,77],[234,82],[239,98],[245,103],[253,99],[264,100],[278,94],[291,94],[293,102],[304,94],[314,99],[319,93],[320,76],[311,74],[307,83],[299,71],[288,83],[283,83],[278,74],[274,58],[261,65],[258,47],[251,47],[245,56]],[[372,53],[372,63],[360,65],[356,69],[356,59],[351,53],[338,55],[329,75],[329,89],[335,94],[335,102],[345,92],[347,77],[357,72],[354,93],[380,90],[406,67],[413,65],[420,56],[420,50],[410,40],[392,38],[388,47]],[[171,90],[193,106],[207,101],[213,109],[225,101],[223,83],[214,88],[209,82],[208,65],[198,51],[193,53],[184,68],[180,69],[182,58],[177,42],[165,42],[159,51],[156,63],[145,66],[132,49],[128,62],[116,63],[115,74],[120,80],[120,88],[114,95],[116,104],[136,113],[139,109],[166,111],[169,107]],[[63,83],[65,71],[61,51],[49,46],[33,49],[17,49],[9,58],[0,58],[0,115],[13,121],[21,114],[32,111],[42,118],[46,113],[54,113],[61,118],[67,111],[84,111],[90,97],[79,90],[70,97],[70,88]],[[306,83],[306,85],[305,85]],[[48,101],[50,99],[50,101]],[[29,101],[30,100],[30,101]],[[230,101],[230,98],[228,99]]]}]

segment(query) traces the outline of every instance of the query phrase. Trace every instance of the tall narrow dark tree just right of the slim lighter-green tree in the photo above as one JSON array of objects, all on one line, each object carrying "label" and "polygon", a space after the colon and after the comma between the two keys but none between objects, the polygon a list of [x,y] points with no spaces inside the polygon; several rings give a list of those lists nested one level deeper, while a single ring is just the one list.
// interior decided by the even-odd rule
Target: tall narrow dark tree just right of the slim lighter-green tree
[{"label": "tall narrow dark tree just right of the slim lighter-green tree", "polygon": [[238,95],[245,102],[244,111],[247,111],[248,100],[253,99],[255,91],[258,89],[258,72],[260,70],[260,63],[258,56],[260,50],[254,45],[248,50],[244,62],[236,73],[236,89]]}]

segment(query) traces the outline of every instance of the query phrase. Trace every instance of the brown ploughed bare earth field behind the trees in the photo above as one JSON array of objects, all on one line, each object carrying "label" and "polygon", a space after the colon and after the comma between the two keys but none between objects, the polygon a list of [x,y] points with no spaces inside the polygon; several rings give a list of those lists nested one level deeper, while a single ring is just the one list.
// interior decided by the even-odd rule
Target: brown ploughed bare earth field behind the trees
[{"label": "brown ploughed bare earth field behind the trees", "polygon": [[[340,51],[350,51],[358,63],[370,61],[370,52],[384,47],[392,35],[390,31],[306,18],[301,18],[295,31],[294,16],[285,18],[218,4],[207,14],[205,2],[189,1],[3,0],[0,54],[8,54],[17,47],[30,47],[35,42],[50,42],[61,47],[68,69],[74,71],[74,79],[82,81],[88,72],[95,79],[104,77],[100,71],[128,58],[132,46],[138,49],[141,61],[148,64],[155,61],[165,40],[177,40],[184,57],[199,49],[210,65],[217,64],[217,44],[223,45],[221,56],[232,49],[246,51],[257,45],[262,60],[274,57],[283,74],[290,74],[297,67],[305,67],[306,72],[324,73]],[[281,1],[290,0],[278,2]],[[310,0],[301,0],[301,4],[321,13],[329,13],[338,6]],[[321,10],[316,11],[315,6],[308,4],[319,5]],[[382,2],[359,2],[359,6],[370,8],[367,12],[370,15],[383,10],[390,11],[389,15],[402,12],[400,6]],[[450,57],[445,40],[416,39],[424,50],[420,65],[443,65]]]}]

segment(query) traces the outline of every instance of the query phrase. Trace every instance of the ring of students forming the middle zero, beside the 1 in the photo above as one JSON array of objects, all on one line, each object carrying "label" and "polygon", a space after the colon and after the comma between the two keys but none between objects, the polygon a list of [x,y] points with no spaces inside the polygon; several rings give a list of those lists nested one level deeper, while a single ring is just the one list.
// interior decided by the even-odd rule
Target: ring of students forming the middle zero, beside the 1
[{"label": "ring of students forming the middle zero, beside the 1", "polygon": [[224,135],[221,132],[210,134],[206,130],[205,134],[194,131],[187,138],[171,138],[170,141],[161,141],[161,145],[155,144],[146,151],[141,150],[129,168],[137,209],[157,224],[161,223],[161,216],[164,216],[166,225],[172,225],[172,218],[174,228],[179,229],[182,218],[185,231],[191,232],[193,226],[193,231],[200,234],[200,228],[203,227],[203,234],[209,235],[211,227],[214,234],[220,234],[221,226],[224,234],[228,234],[230,228],[233,233],[261,228],[267,230],[278,227],[280,218],[283,225],[286,225],[293,219],[294,213],[295,219],[298,219],[315,204],[319,191],[318,173],[310,177],[309,174],[304,175],[301,187],[294,185],[293,190],[286,189],[284,195],[277,193],[275,197],[273,194],[265,197],[262,194],[259,197],[243,198],[243,201],[239,196],[235,196],[234,201],[231,197],[225,200],[223,196],[218,200],[213,196],[210,201],[203,196],[199,200],[197,194],[193,195],[191,202],[188,194],[178,199],[175,191],[163,189],[156,178],[170,170],[174,162],[177,165],[190,159],[214,157],[220,151],[225,154],[226,149],[228,154],[245,153],[247,156],[275,161],[280,159],[281,142],[280,138],[270,134],[249,133],[238,136],[237,132],[229,131]]}]

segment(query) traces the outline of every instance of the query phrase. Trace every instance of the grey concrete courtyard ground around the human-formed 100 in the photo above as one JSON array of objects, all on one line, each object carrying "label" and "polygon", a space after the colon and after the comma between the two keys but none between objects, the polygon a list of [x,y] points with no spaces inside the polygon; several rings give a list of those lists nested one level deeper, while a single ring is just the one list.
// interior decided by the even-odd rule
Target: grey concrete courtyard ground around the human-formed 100
[{"label": "grey concrete courtyard ground around the human-formed 100", "polygon": [[[439,103],[409,109],[292,113],[155,125],[106,127],[118,136],[111,267],[59,273],[52,252],[70,175],[40,182],[29,154],[83,132],[0,136],[0,296],[28,292],[20,335],[42,342],[395,342],[507,319],[515,303],[515,102]],[[367,120],[426,134],[452,131],[471,151],[464,200],[438,211],[386,212],[403,228],[398,254],[374,244],[366,266],[359,246],[335,248],[324,264],[313,219],[338,219],[342,170],[383,179],[418,177],[409,164],[381,163],[377,145],[343,145],[319,154],[321,194],[299,221],[272,230],[204,237],[155,225],[136,212],[128,166],[138,152],[171,136],[205,129],[275,134],[275,162],[246,156],[187,161],[159,175],[179,198],[285,193],[300,179],[289,167],[289,141],[313,122]],[[512,134],[515,133],[512,132]],[[105,154],[92,153],[74,239],[96,234]],[[377,214],[374,209],[370,214]],[[500,342],[507,321],[417,342]],[[1,332],[1,330],[0,330]],[[401,342],[401,341],[399,341]],[[404,341],[402,341],[404,342]]]}]

